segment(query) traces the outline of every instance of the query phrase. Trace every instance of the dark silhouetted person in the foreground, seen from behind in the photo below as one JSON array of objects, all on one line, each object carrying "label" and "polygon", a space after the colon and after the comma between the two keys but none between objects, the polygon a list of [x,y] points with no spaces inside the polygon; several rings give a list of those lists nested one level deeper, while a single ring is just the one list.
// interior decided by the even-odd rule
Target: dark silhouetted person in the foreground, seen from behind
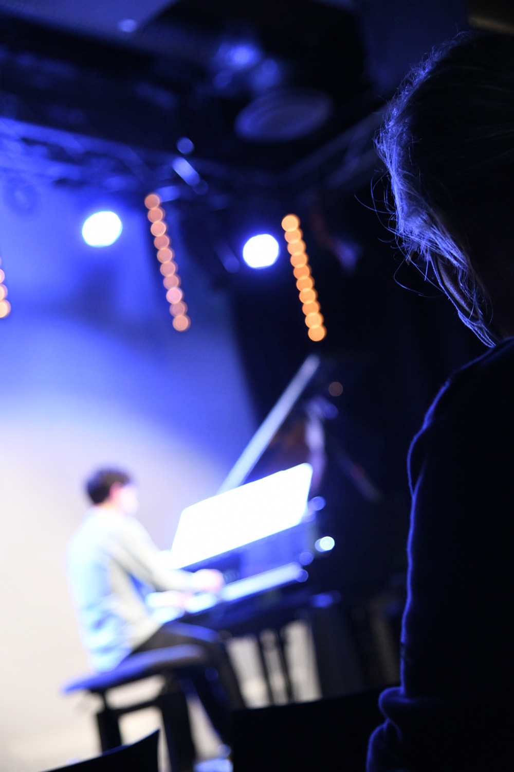
[{"label": "dark silhouetted person in the foreground, seen from behind", "polygon": [[514,39],[472,33],[402,87],[378,141],[408,259],[491,350],[448,381],[409,453],[401,686],[368,772],[503,772],[512,752]]}]

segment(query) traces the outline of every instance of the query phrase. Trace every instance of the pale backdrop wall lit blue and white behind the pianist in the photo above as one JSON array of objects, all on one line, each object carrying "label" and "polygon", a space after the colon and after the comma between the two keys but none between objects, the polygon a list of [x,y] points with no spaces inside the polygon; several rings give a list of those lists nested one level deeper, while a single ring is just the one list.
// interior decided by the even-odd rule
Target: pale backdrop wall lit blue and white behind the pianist
[{"label": "pale backdrop wall lit blue and white behind the pianist", "polygon": [[[18,207],[8,185],[0,201],[12,303],[0,320],[3,772],[96,752],[90,706],[59,694],[88,669],[63,564],[86,476],[102,464],[133,472],[140,519],[167,547],[180,511],[215,493],[255,428],[226,298],[183,251],[176,214],[184,334],[171,327],[143,207],[55,188],[34,201]],[[80,236],[96,208],[124,225],[103,249]]]}]

